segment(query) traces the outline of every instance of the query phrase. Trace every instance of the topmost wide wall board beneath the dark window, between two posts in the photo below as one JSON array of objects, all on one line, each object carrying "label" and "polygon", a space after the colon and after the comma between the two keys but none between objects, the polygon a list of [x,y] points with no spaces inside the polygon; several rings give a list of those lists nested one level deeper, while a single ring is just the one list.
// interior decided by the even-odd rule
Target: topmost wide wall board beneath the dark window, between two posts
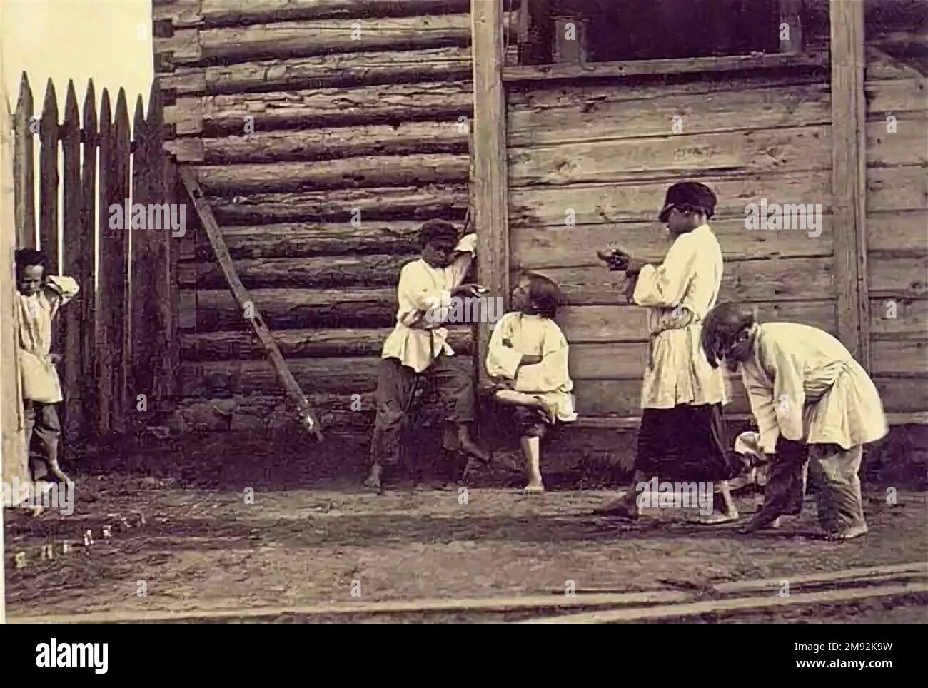
[{"label": "topmost wide wall board beneath the dark window, between two posts", "polygon": [[[507,145],[530,147],[831,122],[827,83],[771,88],[742,80],[741,88],[733,90],[707,81],[687,84],[681,93],[683,88],[671,84],[602,85],[523,92],[509,98]],[[632,98],[629,90],[638,97]]]}]

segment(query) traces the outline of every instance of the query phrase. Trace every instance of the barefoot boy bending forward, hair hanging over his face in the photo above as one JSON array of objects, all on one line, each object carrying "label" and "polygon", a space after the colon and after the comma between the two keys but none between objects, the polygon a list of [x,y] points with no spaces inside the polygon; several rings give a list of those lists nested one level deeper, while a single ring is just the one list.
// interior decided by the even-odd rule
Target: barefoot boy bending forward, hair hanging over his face
[{"label": "barefoot boy bending forward, hair hanging over his face", "polygon": [[808,325],[765,323],[725,303],[706,317],[702,347],[715,367],[741,367],[758,427],[771,454],[764,507],[746,528],[802,511],[806,468],[818,482],[818,522],[829,540],[867,534],[860,495],[863,445],[887,432],[880,394],[840,341]]}]

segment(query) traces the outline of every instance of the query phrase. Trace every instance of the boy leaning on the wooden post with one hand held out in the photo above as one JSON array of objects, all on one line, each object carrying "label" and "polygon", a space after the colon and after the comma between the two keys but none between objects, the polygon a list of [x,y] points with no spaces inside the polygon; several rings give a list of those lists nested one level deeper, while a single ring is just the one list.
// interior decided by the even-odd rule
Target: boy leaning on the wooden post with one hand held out
[{"label": "boy leaning on the wooden post with one hand held out", "polygon": [[[399,440],[415,396],[417,378],[433,376],[445,405],[445,449],[458,447],[484,463],[488,455],[470,440],[474,418],[473,381],[467,362],[459,362],[448,346],[444,325],[451,299],[477,298],[479,285],[462,284],[477,247],[477,235],[458,241],[458,230],[444,220],[419,229],[421,258],[400,271],[396,326],[383,343],[377,380],[377,418],[370,447],[370,471],[364,484],[380,489],[384,465],[399,460]],[[458,447],[455,447],[455,444]]]}]

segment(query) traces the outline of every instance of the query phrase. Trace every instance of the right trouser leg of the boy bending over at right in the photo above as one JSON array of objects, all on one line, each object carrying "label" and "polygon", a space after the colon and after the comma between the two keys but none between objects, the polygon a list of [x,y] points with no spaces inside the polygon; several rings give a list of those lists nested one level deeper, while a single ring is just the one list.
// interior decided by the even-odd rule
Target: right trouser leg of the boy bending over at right
[{"label": "right trouser leg of the boy bending over at right", "polygon": [[809,470],[818,484],[818,523],[826,532],[866,526],[860,495],[861,446],[843,450],[836,444],[809,446]]}]

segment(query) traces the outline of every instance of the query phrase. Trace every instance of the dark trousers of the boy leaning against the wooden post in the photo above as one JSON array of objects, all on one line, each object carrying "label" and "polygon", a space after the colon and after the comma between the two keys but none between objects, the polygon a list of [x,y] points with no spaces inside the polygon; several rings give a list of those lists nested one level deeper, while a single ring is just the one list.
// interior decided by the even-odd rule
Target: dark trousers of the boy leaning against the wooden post
[{"label": "dark trousers of the boy leaning against the wooden post", "polygon": [[[470,423],[474,417],[473,379],[470,361],[457,356],[440,355],[421,373],[397,359],[380,361],[377,377],[377,418],[370,442],[371,463],[395,465],[399,462],[399,445],[412,407],[417,380],[431,377],[452,423]],[[420,384],[420,383],[419,383]]]}]

